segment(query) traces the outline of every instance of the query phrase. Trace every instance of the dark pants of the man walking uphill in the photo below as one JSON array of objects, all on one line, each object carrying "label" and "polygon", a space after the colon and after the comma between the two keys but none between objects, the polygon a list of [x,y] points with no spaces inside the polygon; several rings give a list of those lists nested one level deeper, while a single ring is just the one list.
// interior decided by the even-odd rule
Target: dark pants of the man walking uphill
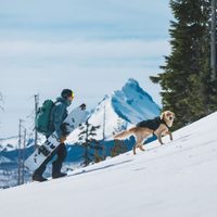
[{"label": "dark pants of the man walking uphill", "polygon": [[46,165],[54,157],[55,154],[58,157],[52,162],[52,174],[59,174],[61,171],[63,162],[65,162],[67,157],[67,150],[64,143],[61,143],[56,150],[52,152],[52,154],[41,164],[41,166],[35,170],[34,175],[42,176],[43,171],[46,170]]}]

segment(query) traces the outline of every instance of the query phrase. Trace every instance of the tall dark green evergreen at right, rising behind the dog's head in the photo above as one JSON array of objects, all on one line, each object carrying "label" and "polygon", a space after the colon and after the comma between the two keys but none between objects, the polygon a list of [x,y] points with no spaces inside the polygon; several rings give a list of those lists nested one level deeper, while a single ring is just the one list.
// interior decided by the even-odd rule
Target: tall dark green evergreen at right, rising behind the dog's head
[{"label": "tall dark green evergreen at right, rising behind the dog's head", "polygon": [[173,129],[188,125],[216,110],[216,80],[212,80],[209,56],[209,2],[170,0],[177,22],[170,22],[171,54],[165,56],[164,73],[151,76],[162,86],[163,111],[176,114]]}]

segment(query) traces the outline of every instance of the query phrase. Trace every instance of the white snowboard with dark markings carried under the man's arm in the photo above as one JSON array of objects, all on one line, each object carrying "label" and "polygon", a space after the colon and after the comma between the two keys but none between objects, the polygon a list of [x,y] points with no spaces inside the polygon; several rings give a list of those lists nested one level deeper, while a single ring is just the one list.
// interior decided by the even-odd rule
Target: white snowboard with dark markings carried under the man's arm
[{"label": "white snowboard with dark markings carried under the man's arm", "polygon": [[[63,120],[62,126],[64,126],[67,135],[66,137],[76,129],[76,127],[81,124],[86,117],[86,111],[81,107],[76,107],[73,110],[68,116]],[[25,167],[29,170],[36,170],[55,149],[61,144],[61,141],[54,131],[43,144],[41,144],[24,163]]]}]

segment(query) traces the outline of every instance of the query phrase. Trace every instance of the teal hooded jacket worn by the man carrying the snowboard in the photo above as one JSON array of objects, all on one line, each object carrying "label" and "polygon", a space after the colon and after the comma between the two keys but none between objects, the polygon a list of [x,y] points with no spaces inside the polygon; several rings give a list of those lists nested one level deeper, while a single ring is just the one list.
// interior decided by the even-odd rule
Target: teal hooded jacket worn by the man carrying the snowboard
[{"label": "teal hooded jacket worn by the man carrying the snowboard", "polygon": [[51,110],[50,120],[48,124],[47,137],[51,136],[53,131],[56,131],[58,137],[62,138],[63,132],[60,129],[63,120],[67,117],[67,106],[71,105],[71,102],[65,98],[56,98],[56,102]]}]

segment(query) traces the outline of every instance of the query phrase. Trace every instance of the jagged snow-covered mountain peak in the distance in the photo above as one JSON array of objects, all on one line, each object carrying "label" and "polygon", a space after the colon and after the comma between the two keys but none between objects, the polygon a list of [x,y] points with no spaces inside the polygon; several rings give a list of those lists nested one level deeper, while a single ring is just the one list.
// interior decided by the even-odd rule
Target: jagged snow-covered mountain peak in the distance
[{"label": "jagged snow-covered mountain peak in the distance", "polygon": [[[159,106],[152,100],[139,82],[129,78],[122,90],[112,92],[98,104],[95,110],[90,113],[89,123],[93,126],[100,125],[97,131],[97,140],[103,138],[103,118],[105,113],[105,137],[112,140],[114,128],[117,128],[117,119],[120,116],[126,128],[130,128],[143,119],[151,119],[159,115]],[[68,144],[77,141],[79,130],[75,130],[67,139]]]}]

